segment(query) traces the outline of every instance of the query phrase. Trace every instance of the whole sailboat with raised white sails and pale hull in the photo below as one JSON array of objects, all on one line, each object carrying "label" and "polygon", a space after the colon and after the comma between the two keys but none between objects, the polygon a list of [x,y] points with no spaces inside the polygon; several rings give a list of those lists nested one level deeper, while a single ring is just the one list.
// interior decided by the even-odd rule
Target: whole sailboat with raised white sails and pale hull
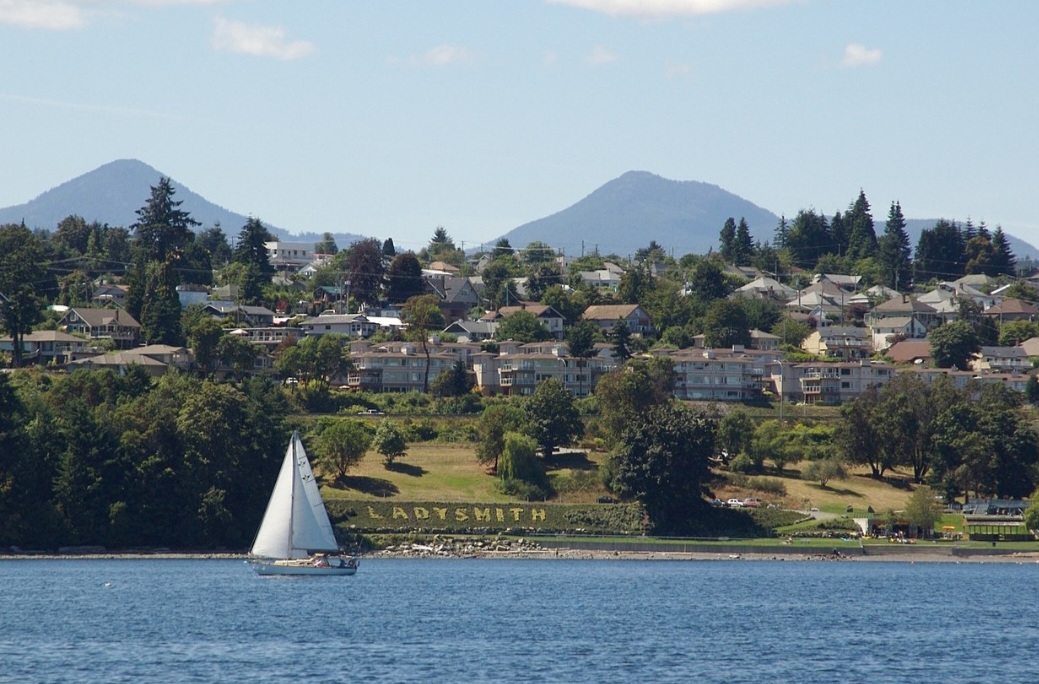
[{"label": "whole sailboat with raised white sails and pale hull", "polygon": [[340,552],[298,431],[292,433],[249,555],[259,575],[357,572],[357,560]]}]

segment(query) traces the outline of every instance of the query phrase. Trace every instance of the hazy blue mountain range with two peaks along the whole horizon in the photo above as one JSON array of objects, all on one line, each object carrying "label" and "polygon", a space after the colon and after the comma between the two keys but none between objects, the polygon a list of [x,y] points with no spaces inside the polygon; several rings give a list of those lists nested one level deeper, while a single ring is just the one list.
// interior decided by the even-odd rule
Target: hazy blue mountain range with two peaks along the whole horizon
[{"label": "hazy blue mountain range with two peaks along the whole horizon", "polygon": [[[121,159],[66,181],[22,205],[0,209],[0,223],[25,222],[29,228],[53,231],[70,215],[87,221],[129,228],[136,210],[151,195],[151,187],[165,176],[136,159]],[[170,179],[181,207],[208,228],[219,222],[229,238],[238,234],[248,217],[213,204]],[[873,207],[878,236],[884,230],[886,207]],[[535,240],[562,249],[567,256],[600,254],[634,255],[656,240],[669,254],[707,254],[718,248],[718,235],[728,217],[746,218],[750,234],[771,241],[779,217],[767,209],[728,192],[717,185],[698,181],[672,181],[648,172],[633,170],[607,182],[588,196],[555,214],[524,223],[505,235],[514,247]],[[262,219],[262,217],[261,217]],[[788,216],[792,220],[793,216]],[[937,219],[910,218],[906,232],[913,247],[921,231]],[[318,242],[318,233],[291,233],[264,223],[278,239]],[[990,227],[992,228],[992,227]],[[336,243],[346,247],[365,239],[363,235],[332,233]],[[1008,234],[1018,258],[1039,260],[1039,249]],[[494,240],[485,245],[494,244]]]}]

